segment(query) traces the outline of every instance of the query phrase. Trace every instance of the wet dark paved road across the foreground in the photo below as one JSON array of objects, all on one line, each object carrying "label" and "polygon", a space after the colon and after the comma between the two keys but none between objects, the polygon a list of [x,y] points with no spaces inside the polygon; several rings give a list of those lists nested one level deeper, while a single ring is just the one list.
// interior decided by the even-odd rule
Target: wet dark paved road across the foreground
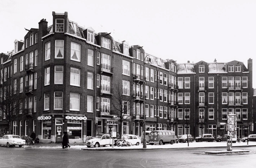
[{"label": "wet dark paved road across the foreground", "polygon": [[77,149],[41,149],[0,147],[0,167],[99,167],[99,168],[166,168],[166,167],[256,167],[256,147],[251,153],[204,154],[226,148],[84,151]]}]

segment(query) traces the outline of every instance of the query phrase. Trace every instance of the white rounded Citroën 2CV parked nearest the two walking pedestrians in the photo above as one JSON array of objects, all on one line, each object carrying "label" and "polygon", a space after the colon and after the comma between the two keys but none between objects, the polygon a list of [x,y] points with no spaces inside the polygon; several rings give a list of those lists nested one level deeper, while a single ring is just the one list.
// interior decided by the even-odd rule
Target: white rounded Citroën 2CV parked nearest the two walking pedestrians
[{"label": "white rounded Citro\u00ebn 2CV parked nearest the two walking pedestrians", "polygon": [[106,145],[112,146],[112,141],[113,141],[113,138],[111,138],[109,134],[97,134],[95,138],[88,140],[88,142],[86,143],[86,146],[88,148],[92,146],[96,148],[100,146],[104,147]]}]

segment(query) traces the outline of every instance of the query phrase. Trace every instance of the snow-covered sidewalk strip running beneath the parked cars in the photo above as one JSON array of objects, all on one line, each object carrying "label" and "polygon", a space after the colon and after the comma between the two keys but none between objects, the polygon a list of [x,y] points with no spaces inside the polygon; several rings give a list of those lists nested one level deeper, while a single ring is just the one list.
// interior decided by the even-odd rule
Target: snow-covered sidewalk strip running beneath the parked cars
[{"label": "snow-covered sidewalk strip running beneath the parked cars", "polygon": [[[69,144],[71,145],[69,149],[79,149],[79,150],[152,150],[152,149],[179,149],[179,148],[216,148],[216,147],[227,147],[227,142],[189,142],[189,147],[187,143],[178,143],[178,144],[166,144],[166,145],[147,145],[147,148],[143,148],[143,145],[140,144],[138,146],[131,146],[131,147],[90,147],[87,148],[85,143],[74,143]],[[233,147],[250,147],[256,146],[256,142],[241,142],[241,143],[233,143]],[[61,144],[34,144],[33,146],[23,146],[24,148],[39,148],[39,149],[62,149]]]}]

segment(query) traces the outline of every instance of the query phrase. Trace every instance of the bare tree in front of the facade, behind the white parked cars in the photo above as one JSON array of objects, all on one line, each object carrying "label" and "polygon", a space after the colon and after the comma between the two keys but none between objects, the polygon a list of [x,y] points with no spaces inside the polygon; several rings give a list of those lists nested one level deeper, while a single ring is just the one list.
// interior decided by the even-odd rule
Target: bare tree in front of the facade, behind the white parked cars
[{"label": "bare tree in front of the facade, behind the white parked cars", "polygon": [[123,87],[120,82],[114,86],[113,96],[110,100],[110,106],[113,110],[111,110],[110,114],[119,119],[118,130],[121,137],[123,122],[131,119],[129,112],[132,109],[132,104],[130,103],[130,96],[127,96],[130,94],[129,90]]}]

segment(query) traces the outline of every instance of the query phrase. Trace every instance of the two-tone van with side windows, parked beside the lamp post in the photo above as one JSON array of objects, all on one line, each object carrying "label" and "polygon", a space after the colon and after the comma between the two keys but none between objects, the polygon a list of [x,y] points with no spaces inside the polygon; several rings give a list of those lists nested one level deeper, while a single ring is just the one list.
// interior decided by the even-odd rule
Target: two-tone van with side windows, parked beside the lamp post
[{"label": "two-tone van with side windows, parked beside the lamp post", "polygon": [[156,130],[151,131],[149,135],[149,144],[174,144],[175,142],[175,132],[174,131],[167,131],[167,130]]}]

